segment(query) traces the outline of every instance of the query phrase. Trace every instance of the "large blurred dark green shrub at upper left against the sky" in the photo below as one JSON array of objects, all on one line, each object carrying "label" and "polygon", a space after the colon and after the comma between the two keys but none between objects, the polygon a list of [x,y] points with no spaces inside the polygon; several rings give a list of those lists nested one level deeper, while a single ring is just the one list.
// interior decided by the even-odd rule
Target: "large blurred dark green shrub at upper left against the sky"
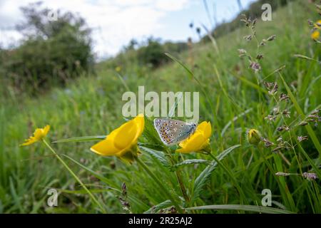
[{"label": "large blurred dark green shrub at upper left against the sky", "polygon": [[57,11],[56,20],[50,21],[49,9],[41,9],[41,3],[21,10],[26,22],[17,29],[24,40],[4,51],[0,62],[15,88],[35,93],[92,69],[91,31],[81,17]]}]

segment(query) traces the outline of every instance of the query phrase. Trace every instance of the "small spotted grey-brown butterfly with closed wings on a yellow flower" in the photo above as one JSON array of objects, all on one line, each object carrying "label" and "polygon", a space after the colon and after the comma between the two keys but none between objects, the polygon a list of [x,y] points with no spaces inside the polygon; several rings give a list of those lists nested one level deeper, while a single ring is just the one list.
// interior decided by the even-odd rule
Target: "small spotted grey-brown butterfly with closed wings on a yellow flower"
[{"label": "small spotted grey-brown butterfly with closed wings on a yellow flower", "polygon": [[196,126],[195,123],[185,123],[180,120],[154,119],[154,127],[165,145],[174,145],[190,137],[195,133]]}]

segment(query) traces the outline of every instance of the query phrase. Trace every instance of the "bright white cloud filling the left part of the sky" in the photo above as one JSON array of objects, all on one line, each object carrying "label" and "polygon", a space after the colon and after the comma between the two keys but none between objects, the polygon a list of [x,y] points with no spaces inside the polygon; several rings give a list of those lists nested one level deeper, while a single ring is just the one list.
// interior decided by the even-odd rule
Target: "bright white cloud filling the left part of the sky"
[{"label": "bright white cloud filling the left part of the sky", "polygon": [[[32,2],[34,1],[1,1],[0,42],[8,44],[12,42],[12,38],[19,39],[19,34],[8,31],[8,27],[14,28],[14,24],[23,20],[19,7]],[[88,26],[93,28],[94,51],[100,57],[117,53],[131,38],[150,36],[163,26],[163,16],[169,11],[183,9],[186,4],[188,0],[44,1],[44,6],[78,12],[85,18]]]}]

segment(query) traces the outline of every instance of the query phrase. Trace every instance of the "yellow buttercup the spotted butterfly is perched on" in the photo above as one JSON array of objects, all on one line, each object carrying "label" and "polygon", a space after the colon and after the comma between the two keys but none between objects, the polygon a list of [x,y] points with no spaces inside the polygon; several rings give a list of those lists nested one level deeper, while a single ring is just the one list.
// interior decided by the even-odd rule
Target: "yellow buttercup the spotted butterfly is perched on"
[{"label": "yellow buttercup the spotted butterfly is perched on", "polygon": [[210,152],[210,135],[212,133],[212,127],[210,122],[202,122],[195,130],[190,138],[180,142],[180,149],[176,152],[188,153],[188,152],[198,152],[205,151]]}]

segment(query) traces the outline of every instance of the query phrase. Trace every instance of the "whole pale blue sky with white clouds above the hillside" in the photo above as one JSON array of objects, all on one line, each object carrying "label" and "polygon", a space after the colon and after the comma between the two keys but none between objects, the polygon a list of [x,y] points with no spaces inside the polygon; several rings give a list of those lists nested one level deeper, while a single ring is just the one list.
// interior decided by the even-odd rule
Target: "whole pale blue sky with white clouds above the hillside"
[{"label": "whole pale blue sky with white clouds above the hillside", "polygon": [[[246,8],[255,0],[240,0]],[[19,45],[21,34],[15,25],[24,21],[19,7],[32,0],[0,0],[0,45]],[[93,51],[97,58],[114,56],[131,38],[138,41],[153,36],[162,41],[198,40],[194,28],[208,28],[230,21],[240,11],[237,0],[207,0],[210,16],[203,0],[44,0],[52,11],[71,11],[86,19],[92,30]],[[202,31],[203,35],[205,31]]]}]

